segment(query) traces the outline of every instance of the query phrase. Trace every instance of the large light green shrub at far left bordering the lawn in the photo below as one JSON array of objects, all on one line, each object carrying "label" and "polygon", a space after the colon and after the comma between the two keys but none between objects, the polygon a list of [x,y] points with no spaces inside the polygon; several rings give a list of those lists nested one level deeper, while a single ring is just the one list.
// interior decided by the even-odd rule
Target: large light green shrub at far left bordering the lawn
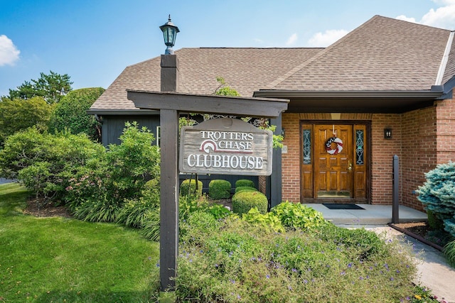
[{"label": "large light green shrub at far left bordering the lawn", "polygon": [[36,128],[15,133],[0,150],[0,175],[26,184],[36,197],[60,199],[80,167],[103,158],[105,148],[85,135],[50,135]]}]

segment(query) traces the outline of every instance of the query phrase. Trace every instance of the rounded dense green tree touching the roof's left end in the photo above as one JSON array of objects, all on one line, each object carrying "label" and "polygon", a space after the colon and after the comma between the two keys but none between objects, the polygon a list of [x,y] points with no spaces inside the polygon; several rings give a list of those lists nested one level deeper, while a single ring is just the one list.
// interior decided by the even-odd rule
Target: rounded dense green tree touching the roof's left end
[{"label": "rounded dense green tree touching the roof's left end", "polygon": [[65,131],[71,133],[85,133],[92,140],[100,141],[101,124],[95,116],[87,114],[101,94],[105,92],[102,87],[92,87],[87,89],[76,89],[69,92],[55,105],[49,121],[49,131]]}]

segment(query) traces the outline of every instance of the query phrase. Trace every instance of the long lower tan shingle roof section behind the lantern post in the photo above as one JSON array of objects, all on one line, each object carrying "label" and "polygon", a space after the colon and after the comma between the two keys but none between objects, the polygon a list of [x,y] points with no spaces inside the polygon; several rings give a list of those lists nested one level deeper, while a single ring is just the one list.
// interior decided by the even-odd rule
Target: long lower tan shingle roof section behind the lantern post
[{"label": "long lower tan shingle roof section behind the lantern post", "polygon": [[[272,82],[323,48],[182,48],[176,50],[180,66],[179,92],[213,94],[217,77],[251,97],[259,87]],[[159,92],[160,57],[131,65],[112,82],[91,109],[136,109],[126,89]]]}]

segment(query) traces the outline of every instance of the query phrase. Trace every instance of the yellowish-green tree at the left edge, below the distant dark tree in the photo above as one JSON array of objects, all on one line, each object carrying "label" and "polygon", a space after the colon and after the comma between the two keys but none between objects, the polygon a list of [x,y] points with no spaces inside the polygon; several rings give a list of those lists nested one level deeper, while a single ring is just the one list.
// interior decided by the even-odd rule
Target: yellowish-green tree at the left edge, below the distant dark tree
[{"label": "yellowish-green tree at the left edge, below the distant dark tree", "polygon": [[1,98],[0,145],[3,145],[6,137],[31,126],[36,126],[41,131],[46,130],[51,111],[52,106],[43,97],[26,100]]}]

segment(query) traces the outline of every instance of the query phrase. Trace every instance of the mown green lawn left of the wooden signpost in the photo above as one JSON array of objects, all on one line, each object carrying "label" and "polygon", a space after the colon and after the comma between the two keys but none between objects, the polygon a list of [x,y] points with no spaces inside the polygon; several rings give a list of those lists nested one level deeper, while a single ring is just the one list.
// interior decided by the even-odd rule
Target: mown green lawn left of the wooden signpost
[{"label": "mown green lawn left of the wooden signpost", "polygon": [[27,197],[0,185],[1,302],[151,302],[158,243],[115,224],[24,215]]}]

